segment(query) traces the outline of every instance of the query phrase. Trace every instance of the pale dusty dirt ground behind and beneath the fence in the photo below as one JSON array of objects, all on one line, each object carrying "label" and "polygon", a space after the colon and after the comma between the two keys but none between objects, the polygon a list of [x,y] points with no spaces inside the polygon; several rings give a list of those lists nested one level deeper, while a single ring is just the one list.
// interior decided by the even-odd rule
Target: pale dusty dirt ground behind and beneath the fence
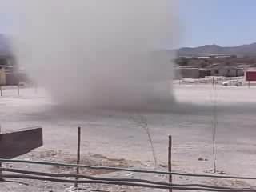
[{"label": "pale dusty dirt ground behind and beneath the fence", "polygon": [[[169,113],[128,113],[115,111],[78,112],[62,110],[42,89],[23,88],[2,91],[0,120],[2,130],[42,126],[44,146],[19,158],[69,162],[75,159],[77,126],[82,127],[82,159],[89,163],[106,162],[110,166],[153,168],[154,161],[145,130],[139,125],[146,118],[152,135],[158,165],[165,166],[168,135],[173,136],[173,169],[188,173],[205,173],[213,168],[212,130],[214,103],[217,111],[217,169],[226,174],[239,176],[256,175],[255,112],[256,87],[210,85],[175,85],[178,104]],[[50,153],[50,154],[49,154]],[[53,154],[51,154],[53,153]],[[93,155],[98,154],[98,155]],[[95,158],[98,157],[98,158]],[[198,158],[208,161],[198,161]],[[108,159],[108,160],[106,160]],[[116,159],[116,161],[110,161]],[[117,165],[118,163],[121,165]],[[10,165],[7,165],[10,166]],[[25,168],[25,165],[14,165]],[[31,167],[52,172],[65,172],[43,166]],[[160,168],[159,168],[160,169]],[[161,168],[165,169],[165,168]],[[70,170],[73,171],[73,170]],[[97,173],[118,177],[127,173]],[[127,177],[148,177],[140,174]],[[155,176],[150,176],[155,180]],[[158,176],[160,181],[167,178]],[[1,183],[0,191],[69,191],[70,185],[50,182]],[[174,178],[174,182],[218,183],[222,185],[247,186],[254,182],[193,180]],[[88,187],[88,186],[87,186]],[[94,190],[141,191],[138,188],[120,186],[90,186]],[[105,188],[106,189],[105,189]],[[93,190],[92,188],[90,190]],[[89,191],[90,191],[89,190]],[[84,189],[86,191],[86,189]],[[152,191],[152,190],[149,190]]]}]

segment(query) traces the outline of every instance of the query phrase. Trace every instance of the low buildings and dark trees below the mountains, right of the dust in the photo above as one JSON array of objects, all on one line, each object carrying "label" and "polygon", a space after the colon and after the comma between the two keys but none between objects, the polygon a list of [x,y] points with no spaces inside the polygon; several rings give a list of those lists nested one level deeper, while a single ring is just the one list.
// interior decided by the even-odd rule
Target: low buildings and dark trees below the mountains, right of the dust
[{"label": "low buildings and dark trees below the mountains, right of the dust", "polygon": [[[186,63],[177,62],[179,66],[174,69],[176,79],[207,76],[247,77],[248,73],[255,73],[255,58],[248,59],[242,54],[182,55],[179,58],[185,59]],[[251,68],[252,66],[254,67]]]}]

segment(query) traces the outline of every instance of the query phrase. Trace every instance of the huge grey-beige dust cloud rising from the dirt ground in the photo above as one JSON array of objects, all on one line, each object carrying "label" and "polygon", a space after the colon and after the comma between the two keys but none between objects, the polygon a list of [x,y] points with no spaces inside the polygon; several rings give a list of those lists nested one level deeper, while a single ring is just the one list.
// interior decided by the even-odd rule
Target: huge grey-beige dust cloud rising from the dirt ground
[{"label": "huge grey-beige dust cloud rising from the dirt ground", "polygon": [[18,63],[54,101],[122,110],[174,102],[171,56],[161,50],[177,34],[172,1],[23,0],[14,10]]}]

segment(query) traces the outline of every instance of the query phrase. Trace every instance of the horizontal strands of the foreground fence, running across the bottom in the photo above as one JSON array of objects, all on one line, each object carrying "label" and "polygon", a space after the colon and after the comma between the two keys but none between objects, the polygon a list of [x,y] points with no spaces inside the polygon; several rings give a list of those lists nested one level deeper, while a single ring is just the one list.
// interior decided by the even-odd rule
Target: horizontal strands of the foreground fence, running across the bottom
[{"label": "horizontal strands of the foreground fence, running across the bottom", "polygon": [[[224,175],[210,175],[210,174],[185,174],[178,172],[168,172],[168,171],[158,171],[158,170],[138,170],[132,168],[119,168],[119,167],[108,167],[108,166],[87,166],[78,164],[66,164],[59,162],[38,162],[38,161],[26,161],[26,160],[14,160],[14,159],[4,159],[0,158],[0,162],[11,162],[11,163],[28,163],[37,164],[44,166],[67,166],[67,167],[83,167],[87,169],[96,170],[115,170],[115,171],[128,171],[137,172],[144,174],[166,174],[166,175],[180,175],[186,177],[204,177],[204,178],[232,178],[232,179],[242,179],[242,180],[256,180],[256,178],[250,177],[236,177],[236,176],[224,176]],[[10,168],[0,168],[2,172],[8,172],[12,174],[0,174],[0,178],[20,178],[20,179],[31,179],[39,181],[50,181],[50,182],[63,182],[63,183],[83,183],[83,184],[106,184],[106,185],[116,185],[116,186],[138,186],[154,189],[166,189],[166,190],[197,190],[197,191],[256,191],[250,187],[247,188],[234,188],[227,186],[210,186],[202,185],[197,183],[192,184],[174,184],[170,182],[155,182],[146,179],[136,179],[136,178],[102,178],[94,177],[84,174],[52,174],[43,173],[38,171],[30,170],[18,170]],[[74,178],[74,179],[67,179]],[[76,178],[82,179],[77,180]]]}]

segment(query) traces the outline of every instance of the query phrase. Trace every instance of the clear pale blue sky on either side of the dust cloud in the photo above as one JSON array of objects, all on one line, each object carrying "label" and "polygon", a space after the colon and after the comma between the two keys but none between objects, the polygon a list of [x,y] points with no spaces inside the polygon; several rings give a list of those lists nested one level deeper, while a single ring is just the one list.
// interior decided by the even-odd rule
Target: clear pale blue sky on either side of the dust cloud
[{"label": "clear pale blue sky on either side of the dust cloud", "polygon": [[[0,0],[0,3],[5,5],[7,1]],[[256,42],[256,0],[178,2],[181,26],[179,46],[235,46]],[[0,9],[0,33],[10,32],[12,22],[8,10]]]}]

